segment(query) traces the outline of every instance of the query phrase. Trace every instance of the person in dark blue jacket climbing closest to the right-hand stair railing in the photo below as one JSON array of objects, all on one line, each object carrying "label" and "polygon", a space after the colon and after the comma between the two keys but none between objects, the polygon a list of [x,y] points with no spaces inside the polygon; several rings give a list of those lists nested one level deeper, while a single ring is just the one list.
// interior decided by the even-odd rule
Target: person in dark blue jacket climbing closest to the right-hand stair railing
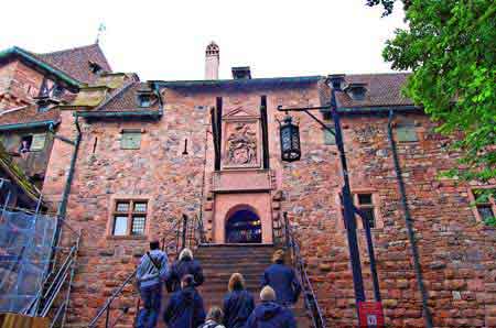
[{"label": "person in dark blue jacket climbing closest to the right-hand stair railing", "polygon": [[271,286],[277,295],[277,303],[290,306],[298,302],[301,285],[294,270],[284,264],[284,252],[278,250],[272,255],[273,264],[266,269],[262,286]]}]

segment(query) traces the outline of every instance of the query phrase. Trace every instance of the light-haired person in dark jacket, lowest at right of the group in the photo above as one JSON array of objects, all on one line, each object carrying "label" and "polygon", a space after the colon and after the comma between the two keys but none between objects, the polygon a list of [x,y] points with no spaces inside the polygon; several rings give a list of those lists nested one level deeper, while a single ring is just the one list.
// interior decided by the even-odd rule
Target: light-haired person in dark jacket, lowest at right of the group
[{"label": "light-haired person in dark jacket, lowest at right of the group", "polygon": [[260,292],[261,303],[257,305],[245,328],[296,328],[296,320],[290,309],[277,304],[276,293],[270,286]]}]

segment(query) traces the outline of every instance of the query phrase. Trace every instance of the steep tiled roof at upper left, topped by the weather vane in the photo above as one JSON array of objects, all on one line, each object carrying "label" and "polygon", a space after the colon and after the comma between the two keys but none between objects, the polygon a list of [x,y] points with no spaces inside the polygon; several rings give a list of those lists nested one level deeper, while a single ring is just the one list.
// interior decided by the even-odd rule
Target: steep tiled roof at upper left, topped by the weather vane
[{"label": "steep tiled roof at upper left, topped by the weather vane", "polygon": [[98,76],[90,70],[90,62],[100,65],[106,72],[111,72],[110,65],[98,44],[37,54],[37,56],[45,63],[86,84],[94,84],[98,79]]}]

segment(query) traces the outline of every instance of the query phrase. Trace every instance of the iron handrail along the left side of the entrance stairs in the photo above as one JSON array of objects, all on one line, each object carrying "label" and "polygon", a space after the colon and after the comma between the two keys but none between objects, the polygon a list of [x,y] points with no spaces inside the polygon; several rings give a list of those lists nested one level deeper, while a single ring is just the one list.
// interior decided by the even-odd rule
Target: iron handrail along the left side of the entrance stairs
[{"label": "iron handrail along the left side of the entrance stairs", "polygon": [[[177,258],[184,248],[196,248],[205,240],[206,238],[203,231],[202,219],[198,217],[190,219],[186,215],[183,215],[182,219],[176,220],[174,226],[162,237],[161,242],[162,250],[166,250],[169,255],[174,252],[174,258]],[[116,287],[110,297],[107,298],[104,306],[89,322],[88,328],[96,327],[104,315],[105,327],[114,327],[129,311],[129,307],[122,307],[119,316],[117,316],[117,318],[114,319],[114,322],[111,322],[111,310],[114,309],[112,304],[123,295],[126,287],[134,282],[136,273],[137,270],[129,274],[126,280],[118,287]],[[138,291],[136,289],[137,288],[134,288],[134,292],[131,294],[133,297],[138,296]],[[140,311],[140,297],[138,297],[136,304],[134,324]]]}]

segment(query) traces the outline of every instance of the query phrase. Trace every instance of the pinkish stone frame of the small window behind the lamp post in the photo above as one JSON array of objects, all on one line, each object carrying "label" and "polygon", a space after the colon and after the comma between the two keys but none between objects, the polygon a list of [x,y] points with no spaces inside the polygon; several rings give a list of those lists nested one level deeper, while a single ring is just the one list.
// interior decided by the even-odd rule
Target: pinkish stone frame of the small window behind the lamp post
[{"label": "pinkish stone frame of the small window behind the lamp post", "polygon": [[[352,196],[353,196],[353,204],[355,206],[357,206],[358,204],[358,195],[366,195],[366,194],[370,194],[371,195],[371,204],[374,205],[374,218],[375,218],[375,222],[376,222],[376,227],[370,228],[371,231],[378,231],[384,229],[384,218],[380,215],[380,197],[379,197],[379,193],[377,189],[373,189],[373,188],[352,188]],[[337,217],[338,217],[338,222],[337,222],[337,227],[339,229],[345,229],[344,226],[344,216],[343,216],[343,206],[342,206],[342,200],[341,200],[341,187],[338,188],[337,193],[336,193],[336,205],[337,205]],[[359,206],[357,206],[359,208]],[[362,218],[356,215],[356,227],[358,229],[359,232],[365,232],[365,229],[362,225]]]}]

